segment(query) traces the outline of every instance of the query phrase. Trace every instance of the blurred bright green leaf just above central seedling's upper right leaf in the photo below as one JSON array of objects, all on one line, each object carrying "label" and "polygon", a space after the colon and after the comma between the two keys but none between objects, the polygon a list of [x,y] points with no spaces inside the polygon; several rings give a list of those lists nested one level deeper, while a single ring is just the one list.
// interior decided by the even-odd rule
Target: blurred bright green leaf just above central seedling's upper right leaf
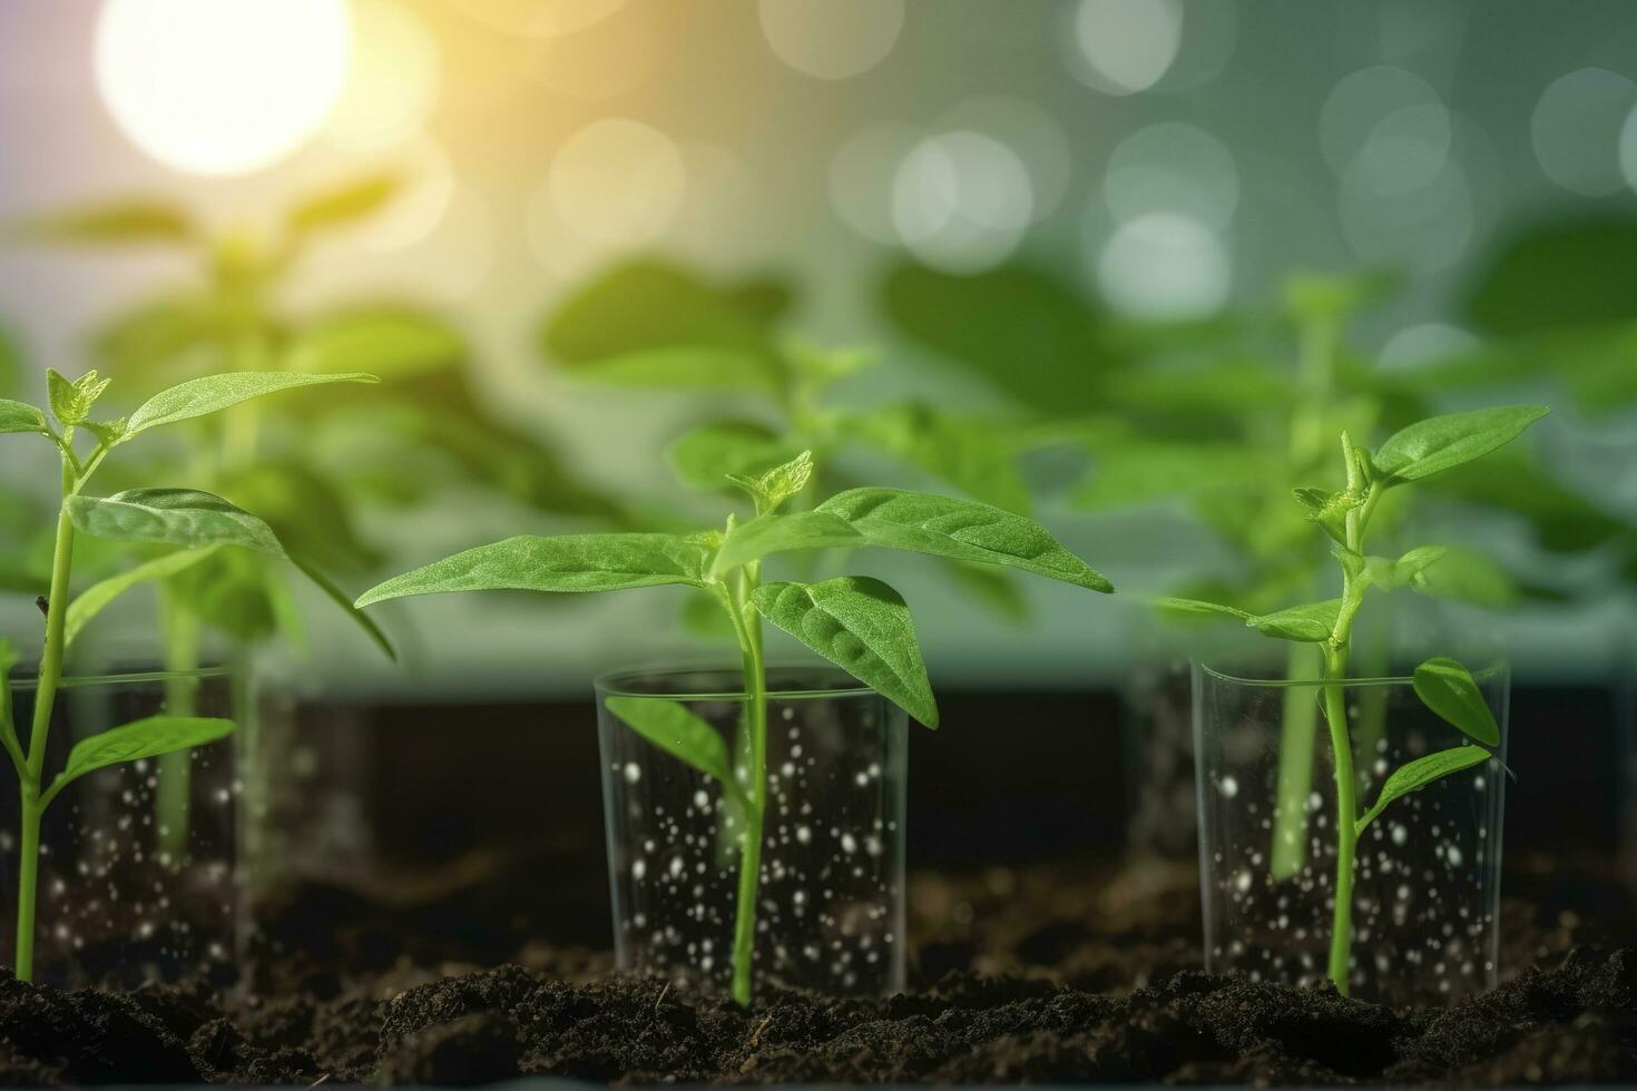
[{"label": "blurred bright green leaf just above central seedling's upper right leaf", "polygon": [[1028,486],[1013,463],[1008,425],[961,419],[918,402],[838,411],[837,429],[953,484],[984,504],[1026,515]]}]

